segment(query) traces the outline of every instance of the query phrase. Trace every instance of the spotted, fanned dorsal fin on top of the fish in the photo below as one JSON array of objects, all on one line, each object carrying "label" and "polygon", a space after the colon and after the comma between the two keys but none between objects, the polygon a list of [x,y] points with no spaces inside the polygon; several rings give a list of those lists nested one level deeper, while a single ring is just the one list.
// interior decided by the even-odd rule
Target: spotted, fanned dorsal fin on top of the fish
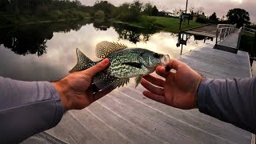
[{"label": "spotted, fanned dorsal fin on top of the fish", "polygon": [[126,49],[127,46],[120,44],[118,42],[107,42],[102,41],[99,42],[96,46],[96,56],[98,58],[106,58],[109,54],[113,53],[114,51]]}]

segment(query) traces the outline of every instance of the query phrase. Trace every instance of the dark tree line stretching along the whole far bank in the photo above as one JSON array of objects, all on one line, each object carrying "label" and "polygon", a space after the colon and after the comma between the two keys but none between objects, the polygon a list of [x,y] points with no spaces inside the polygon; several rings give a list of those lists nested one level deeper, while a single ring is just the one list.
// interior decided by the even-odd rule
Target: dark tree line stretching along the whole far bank
[{"label": "dark tree line stretching along the whole far bank", "polygon": [[[121,6],[114,6],[110,2],[98,0],[94,6],[84,6],[79,0],[1,0],[1,22],[20,23],[33,19],[67,19],[67,18],[96,18],[116,19],[122,22],[142,21],[142,15],[178,18],[185,10],[174,9],[172,13],[159,11],[150,2],[142,3],[138,0],[126,2]],[[191,15],[198,15],[198,22],[216,23],[244,23],[250,24],[250,15],[246,10],[229,10],[226,17],[218,18],[216,13],[209,18],[204,16],[204,8],[190,7],[187,11]]]}]

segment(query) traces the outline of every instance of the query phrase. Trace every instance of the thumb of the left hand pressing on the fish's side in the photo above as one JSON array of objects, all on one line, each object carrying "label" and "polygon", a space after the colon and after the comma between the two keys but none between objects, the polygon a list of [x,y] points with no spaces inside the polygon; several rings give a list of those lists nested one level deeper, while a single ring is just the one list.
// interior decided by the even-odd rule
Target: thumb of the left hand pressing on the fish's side
[{"label": "thumb of the left hand pressing on the fish's side", "polygon": [[109,66],[110,60],[108,58],[102,60],[102,62],[98,62],[95,66],[90,67],[87,70],[83,70],[84,73],[90,75],[91,77],[94,77],[95,74],[98,72],[101,72],[102,70],[105,70],[107,66]]}]

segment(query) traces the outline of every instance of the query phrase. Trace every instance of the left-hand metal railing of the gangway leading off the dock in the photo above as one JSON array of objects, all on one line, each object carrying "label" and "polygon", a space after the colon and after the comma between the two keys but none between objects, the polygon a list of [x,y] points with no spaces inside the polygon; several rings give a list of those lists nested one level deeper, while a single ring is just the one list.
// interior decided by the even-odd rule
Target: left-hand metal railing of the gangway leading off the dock
[{"label": "left-hand metal railing of the gangway leading off the dock", "polygon": [[235,25],[229,25],[229,24],[218,24],[217,30],[216,30],[216,44],[218,42],[221,42],[226,36],[234,33],[234,30],[236,28]]}]

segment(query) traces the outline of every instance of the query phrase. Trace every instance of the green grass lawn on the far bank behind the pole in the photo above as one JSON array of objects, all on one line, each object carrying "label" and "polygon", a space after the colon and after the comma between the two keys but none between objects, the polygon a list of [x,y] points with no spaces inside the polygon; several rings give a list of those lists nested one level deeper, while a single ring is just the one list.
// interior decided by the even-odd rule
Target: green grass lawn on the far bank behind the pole
[{"label": "green grass lawn on the far bank behind the pole", "polygon": [[[162,30],[178,33],[179,32],[179,19],[178,18],[164,18],[164,17],[154,17],[146,16],[146,18],[152,19],[155,25],[162,26]],[[182,30],[190,29],[197,26],[202,26],[204,24],[190,21],[190,25],[186,22],[182,22]]]}]

